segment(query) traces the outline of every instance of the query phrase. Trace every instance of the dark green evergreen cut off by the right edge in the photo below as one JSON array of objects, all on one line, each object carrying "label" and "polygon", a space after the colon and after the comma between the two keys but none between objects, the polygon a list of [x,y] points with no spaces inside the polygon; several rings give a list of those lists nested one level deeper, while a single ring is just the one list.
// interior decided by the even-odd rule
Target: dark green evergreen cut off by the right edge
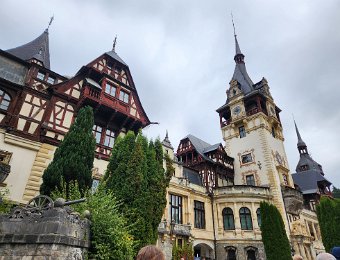
[{"label": "dark green evergreen cut off by the right edge", "polygon": [[316,212],[326,251],[340,245],[340,200],[322,197]]}]

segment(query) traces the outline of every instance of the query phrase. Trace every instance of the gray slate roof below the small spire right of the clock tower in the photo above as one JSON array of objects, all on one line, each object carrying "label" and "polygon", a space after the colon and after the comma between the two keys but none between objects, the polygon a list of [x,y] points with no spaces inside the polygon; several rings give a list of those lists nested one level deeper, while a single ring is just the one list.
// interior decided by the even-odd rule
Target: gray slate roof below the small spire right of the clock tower
[{"label": "gray slate roof below the small spire right of the clock tower", "polygon": [[331,184],[331,182],[316,170],[294,173],[292,177],[294,183],[299,185],[302,194],[317,193],[319,191],[318,182],[325,182],[327,185]]}]

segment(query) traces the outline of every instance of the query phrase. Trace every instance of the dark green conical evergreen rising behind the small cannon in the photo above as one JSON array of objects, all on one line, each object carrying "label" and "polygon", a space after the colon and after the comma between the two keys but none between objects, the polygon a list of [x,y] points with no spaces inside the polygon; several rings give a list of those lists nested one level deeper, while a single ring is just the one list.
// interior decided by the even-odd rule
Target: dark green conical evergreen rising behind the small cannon
[{"label": "dark green conical evergreen rising behind the small cannon", "polygon": [[87,106],[79,110],[75,122],[44,171],[41,194],[50,195],[55,189],[61,190],[62,180],[66,183],[67,198],[72,181],[77,181],[81,193],[91,187],[96,145],[92,128],[93,111]]}]

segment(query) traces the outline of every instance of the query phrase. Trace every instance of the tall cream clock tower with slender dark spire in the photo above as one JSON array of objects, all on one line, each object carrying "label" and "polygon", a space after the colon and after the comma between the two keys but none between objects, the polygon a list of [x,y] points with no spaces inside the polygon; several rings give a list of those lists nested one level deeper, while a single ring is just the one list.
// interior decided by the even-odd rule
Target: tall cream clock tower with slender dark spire
[{"label": "tall cream clock tower with slender dark spire", "polygon": [[[273,203],[287,225],[282,198],[284,187],[294,187],[284,148],[280,109],[271,96],[268,81],[253,83],[237,36],[235,70],[226,103],[217,109],[225,149],[234,157],[235,185],[268,186]],[[287,230],[288,232],[288,230]]]}]

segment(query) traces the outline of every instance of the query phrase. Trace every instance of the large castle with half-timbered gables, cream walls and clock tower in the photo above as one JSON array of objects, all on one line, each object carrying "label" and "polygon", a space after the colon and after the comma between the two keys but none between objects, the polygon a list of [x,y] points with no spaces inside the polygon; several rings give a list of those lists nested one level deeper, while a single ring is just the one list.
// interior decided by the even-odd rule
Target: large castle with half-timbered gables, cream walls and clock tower
[{"label": "large castle with half-timbered gables, cream walls and clock tower", "polygon": [[[189,134],[175,151],[168,133],[163,140],[175,172],[157,244],[167,259],[174,245],[187,243],[197,259],[266,259],[259,206],[267,201],[282,214],[292,253],[315,259],[324,251],[315,205],[321,196],[332,196],[331,183],[296,125],[300,161],[290,172],[281,110],[267,80],[254,84],[249,77],[234,37],[235,70],[226,103],[217,109],[224,143],[211,145]],[[115,138],[150,124],[115,44],[73,77],[51,70],[48,29],[27,44],[0,50],[0,185],[13,201],[27,203],[39,194],[44,170],[85,105],[95,116],[96,185]]]}]

